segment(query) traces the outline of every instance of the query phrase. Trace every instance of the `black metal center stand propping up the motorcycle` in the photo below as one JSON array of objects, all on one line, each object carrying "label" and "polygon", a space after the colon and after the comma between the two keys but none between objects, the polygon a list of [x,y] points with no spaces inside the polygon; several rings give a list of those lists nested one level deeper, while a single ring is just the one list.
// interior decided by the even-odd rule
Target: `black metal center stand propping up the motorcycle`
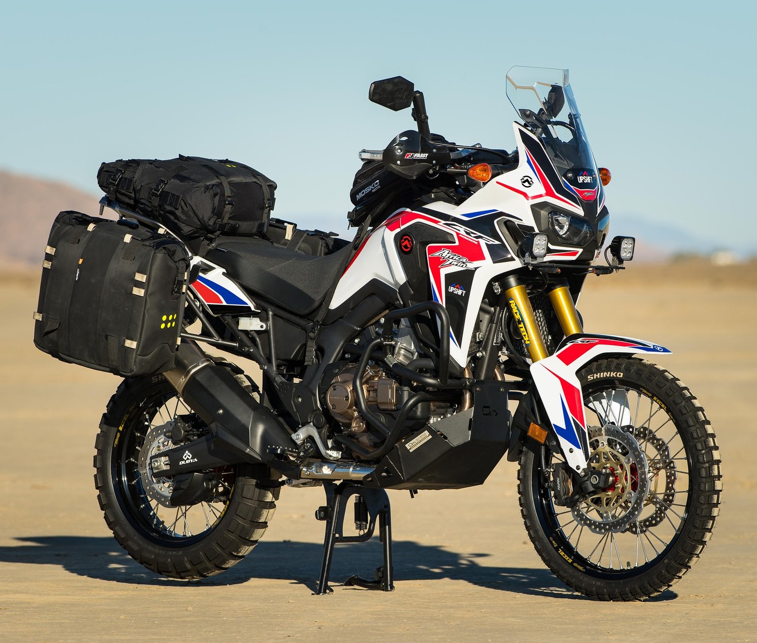
[{"label": "black metal center stand propping up the motorcycle", "polygon": [[[384,489],[365,488],[351,482],[324,481],[326,491],[326,505],[318,507],[316,520],[326,521],[326,538],[323,541],[323,563],[316,595],[330,594],[334,591],[329,587],[329,572],[334,557],[334,545],[343,542],[369,541],[378,520],[378,538],[384,544],[384,564],[375,570],[375,580],[366,580],[360,576],[350,576],[344,585],[357,586],[366,589],[394,591],[394,570],[391,562],[391,510],[389,497]],[[347,500],[355,498],[355,528],[363,531],[360,535],[344,535],[344,510]]]}]

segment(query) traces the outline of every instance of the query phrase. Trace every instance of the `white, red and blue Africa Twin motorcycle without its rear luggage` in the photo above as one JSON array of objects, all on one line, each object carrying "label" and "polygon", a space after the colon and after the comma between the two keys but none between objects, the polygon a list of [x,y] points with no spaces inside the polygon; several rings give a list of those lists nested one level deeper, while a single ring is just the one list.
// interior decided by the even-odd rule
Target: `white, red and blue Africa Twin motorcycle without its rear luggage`
[{"label": "white, red and blue Africa Twin motorcycle without its rear luggage", "polygon": [[[361,152],[354,242],[309,256],[221,236],[192,254],[175,367],[124,380],[96,444],[105,520],[139,563],[220,573],[257,544],[282,487],[323,485],[318,593],[335,543],[377,525],[384,565],[348,582],[389,590],[386,490],[479,485],[504,456],[531,542],[576,591],[647,598],[699,557],[721,489],[709,420],[649,361],[667,348],[588,334],[575,307],[588,274],[633,255],[631,237],[606,243],[609,172],[567,71],[506,81],[512,153],[431,134],[401,77],[372,84],[379,105],[413,105],[417,130]],[[198,342],[250,358],[262,384]],[[360,533],[346,536],[352,496]]]}]

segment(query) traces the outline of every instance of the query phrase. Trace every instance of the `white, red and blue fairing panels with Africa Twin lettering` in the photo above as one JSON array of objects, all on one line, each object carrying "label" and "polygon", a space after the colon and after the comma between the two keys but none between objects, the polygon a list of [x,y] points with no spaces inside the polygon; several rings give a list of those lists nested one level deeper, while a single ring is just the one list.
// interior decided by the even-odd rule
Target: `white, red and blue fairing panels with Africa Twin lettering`
[{"label": "white, red and blue fairing panels with Africa Twin lettering", "polygon": [[[518,249],[510,247],[501,233],[500,224],[510,220],[523,229],[538,230],[531,206],[543,202],[578,215],[583,212],[575,190],[556,178],[558,175],[551,165],[547,167],[550,161],[540,141],[517,123],[513,123],[513,128],[519,142],[519,164],[515,169],[491,179],[458,206],[438,202],[426,205],[421,211],[395,212],[377,226],[359,248],[341,276],[330,308],[344,304],[373,279],[399,292],[400,286],[408,280],[400,260],[403,233],[409,226],[419,223],[438,229],[440,238],[451,235],[453,241],[431,243],[412,251],[425,252],[422,263],[428,270],[428,286],[434,301],[443,304],[450,312],[450,298],[465,298],[465,322],[457,332],[450,333],[450,356],[459,367],[466,367],[472,333],[488,283],[523,265],[518,258]],[[551,182],[547,176],[553,177]],[[558,180],[559,185],[553,186]],[[600,190],[597,198],[603,201],[603,191]],[[598,207],[601,208],[601,204]],[[488,223],[488,234],[481,233],[483,220]],[[579,254],[581,250],[575,246],[550,244],[547,257],[539,261],[573,261]],[[450,283],[453,275],[468,270],[473,272],[473,277],[466,279],[465,287],[461,288],[454,281]],[[458,307],[459,304],[456,302]]]}]

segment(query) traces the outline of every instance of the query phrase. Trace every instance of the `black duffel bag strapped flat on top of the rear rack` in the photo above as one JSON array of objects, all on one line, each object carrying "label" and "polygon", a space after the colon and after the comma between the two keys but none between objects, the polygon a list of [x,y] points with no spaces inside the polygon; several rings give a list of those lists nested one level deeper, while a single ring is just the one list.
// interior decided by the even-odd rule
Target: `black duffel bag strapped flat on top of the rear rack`
[{"label": "black duffel bag strapped flat on top of the rear rack", "polygon": [[247,165],[181,155],[104,163],[97,180],[109,198],[182,239],[264,233],[276,191],[276,183]]}]

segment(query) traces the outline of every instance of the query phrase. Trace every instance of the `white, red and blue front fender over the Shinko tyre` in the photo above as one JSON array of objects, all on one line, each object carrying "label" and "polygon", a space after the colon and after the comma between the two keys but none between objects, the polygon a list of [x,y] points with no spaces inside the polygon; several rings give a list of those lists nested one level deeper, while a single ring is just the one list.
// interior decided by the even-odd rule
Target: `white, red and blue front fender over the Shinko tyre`
[{"label": "white, red and blue front fender over the Shinko tyre", "polygon": [[584,394],[578,370],[599,357],[670,354],[667,348],[630,337],[580,333],[566,337],[554,354],[531,364],[531,377],[569,467],[582,472],[589,457]]}]

